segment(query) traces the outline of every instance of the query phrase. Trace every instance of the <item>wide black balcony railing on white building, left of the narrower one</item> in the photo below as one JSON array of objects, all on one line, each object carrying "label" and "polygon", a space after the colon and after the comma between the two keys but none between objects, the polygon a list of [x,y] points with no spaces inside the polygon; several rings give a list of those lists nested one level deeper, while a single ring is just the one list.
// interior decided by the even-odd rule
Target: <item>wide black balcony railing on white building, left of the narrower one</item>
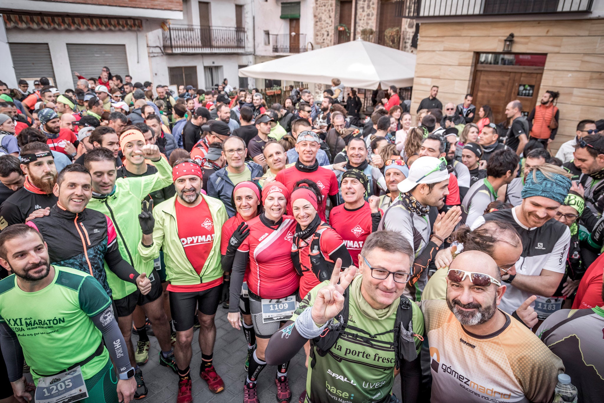
[{"label": "wide black balcony railing on white building, left of the narrower one", "polygon": [[245,51],[245,28],[170,26],[162,39],[164,53]]}]

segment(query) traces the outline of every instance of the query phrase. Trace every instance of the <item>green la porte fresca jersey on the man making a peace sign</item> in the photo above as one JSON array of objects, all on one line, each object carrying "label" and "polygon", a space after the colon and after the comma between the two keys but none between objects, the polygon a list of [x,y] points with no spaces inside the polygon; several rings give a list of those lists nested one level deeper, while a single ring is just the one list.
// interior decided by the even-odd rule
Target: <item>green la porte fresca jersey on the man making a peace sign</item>
[{"label": "green la porte fresca jersey on the man making a peace sign", "polygon": [[[365,330],[371,335],[382,334],[394,329],[399,299],[386,309],[373,309],[362,297],[362,276],[357,277],[350,285],[348,325]],[[317,292],[328,285],[323,282],[313,288],[292,320],[304,309],[312,306]],[[423,316],[419,307],[411,304],[413,309],[413,331],[423,334]],[[309,365],[306,377],[306,390],[313,403],[370,403],[388,402],[394,384],[394,334],[370,337],[350,327],[345,329],[336,343],[325,356],[315,354],[314,368]],[[419,353],[422,341],[416,338],[416,349]],[[308,401],[308,400],[307,400]]]}]

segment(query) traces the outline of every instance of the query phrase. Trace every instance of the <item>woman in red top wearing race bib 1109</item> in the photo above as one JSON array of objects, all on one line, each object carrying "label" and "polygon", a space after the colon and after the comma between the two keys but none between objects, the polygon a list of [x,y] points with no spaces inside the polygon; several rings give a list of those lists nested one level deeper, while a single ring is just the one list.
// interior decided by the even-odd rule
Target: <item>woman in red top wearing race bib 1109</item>
[{"label": "woman in red top wearing race bib 1109", "polygon": [[[237,248],[231,274],[231,301],[241,292],[243,277],[247,272],[249,309],[256,334],[257,348],[249,360],[248,376],[243,389],[243,403],[259,402],[256,381],[266,366],[265,350],[269,338],[279,330],[281,323],[294,314],[300,277],[291,258],[292,240],[296,222],[284,215],[288,206],[289,191],[281,182],[271,182],[262,190],[264,213],[247,221],[249,234]],[[239,326],[239,309],[229,307],[228,321]],[[275,384],[277,401],[291,399],[287,363],[277,368]]]}]

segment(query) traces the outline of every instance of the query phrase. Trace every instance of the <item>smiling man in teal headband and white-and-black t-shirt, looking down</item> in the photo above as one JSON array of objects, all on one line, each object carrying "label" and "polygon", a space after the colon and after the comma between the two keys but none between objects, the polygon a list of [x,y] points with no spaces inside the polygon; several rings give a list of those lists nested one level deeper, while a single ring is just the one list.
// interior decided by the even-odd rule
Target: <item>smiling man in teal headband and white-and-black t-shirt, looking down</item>
[{"label": "smiling man in teal headband and white-and-black t-shirt, looking down", "polygon": [[516,228],[522,239],[516,274],[503,276],[503,281],[510,285],[500,305],[505,312],[511,314],[533,294],[538,295],[535,311],[539,318],[544,319],[560,309],[546,301],[564,277],[570,230],[552,218],[568,195],[570,176],[551,164],[534,167],[525,176],[521,205],[484,214],[471,226],[476,228],[490,220],[506,221]]}]

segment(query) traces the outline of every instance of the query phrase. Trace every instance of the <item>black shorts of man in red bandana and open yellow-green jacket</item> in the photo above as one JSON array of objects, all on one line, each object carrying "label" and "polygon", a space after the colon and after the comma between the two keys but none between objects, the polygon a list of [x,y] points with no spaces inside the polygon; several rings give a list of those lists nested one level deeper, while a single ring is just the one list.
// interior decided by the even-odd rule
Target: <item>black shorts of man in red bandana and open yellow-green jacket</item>
[{"label": "black shorts of man in red bandana and open yellow-green jacket", "polygon": [[222,284],[204,291],[169,293],[174,328],[177,332],[185,332],[193,327],[193,318],[198,306],[204,315],[216,314],[222,295]]}]

